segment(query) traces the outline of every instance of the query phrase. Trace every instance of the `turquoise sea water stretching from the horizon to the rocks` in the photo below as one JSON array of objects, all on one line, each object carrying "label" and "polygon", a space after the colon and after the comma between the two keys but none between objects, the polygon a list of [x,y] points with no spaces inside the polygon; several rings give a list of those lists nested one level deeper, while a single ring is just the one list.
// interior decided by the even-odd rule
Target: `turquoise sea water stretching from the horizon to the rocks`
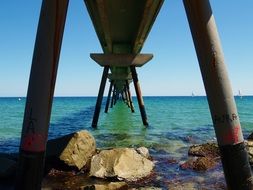
[{"label": "turquoise sea water stretching from the horizon to the rocks", "polygon": [[[235,99],[247,137],[253,131],[253,96]],[[187,160],[190,145],[215,140],[206,97],[144,97],[148,128],[142,125],[135,97],[135,113],[119,101],[106,114],[105,101],[98,128],[92,129],[95,97],[54,98],[49,138],[86,129],[95,136],[98,148],[145,146],[156,161],[155,177],[147,184],[156,187],[180,181],[195,181],[200,187],[210,188],[224,184],[221,166],[209,172],[179,167]],[[0,152],[18,151],[24,107],[25,98],[0,98]]]}]

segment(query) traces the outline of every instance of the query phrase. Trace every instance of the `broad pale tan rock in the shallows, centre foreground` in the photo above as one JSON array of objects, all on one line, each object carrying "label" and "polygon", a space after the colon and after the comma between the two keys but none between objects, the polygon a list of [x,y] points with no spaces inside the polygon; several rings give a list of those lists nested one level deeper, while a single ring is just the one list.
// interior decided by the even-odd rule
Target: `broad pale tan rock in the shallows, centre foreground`
[{"label": "broad pale tan rock in the shallows, centre foreground", "polygon": [[92,157],[90,175],[136,181],[150,175],[154,164],[132,148],[102,150]]}]

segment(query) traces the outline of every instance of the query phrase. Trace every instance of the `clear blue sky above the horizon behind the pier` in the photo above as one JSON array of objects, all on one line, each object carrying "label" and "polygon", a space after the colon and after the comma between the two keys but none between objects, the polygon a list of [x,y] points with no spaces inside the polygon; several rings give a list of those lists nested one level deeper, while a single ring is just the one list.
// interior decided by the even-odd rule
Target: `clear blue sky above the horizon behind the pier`
[{"label": "clear blue sky above the horizon behind the pier", "polygon": [[[252,95],[253,1],[210,2],[233,92]],[[40,6],[41,0],[0,3],[0,96],[26,96]],[[55,96],[97,95],[102,68],[89,58],[97,52],[102,50],[83,1],[70,0]],[[205,95],[181,0],[165,0],[142,53],[154,54],[137,70],[143,95]]]}]

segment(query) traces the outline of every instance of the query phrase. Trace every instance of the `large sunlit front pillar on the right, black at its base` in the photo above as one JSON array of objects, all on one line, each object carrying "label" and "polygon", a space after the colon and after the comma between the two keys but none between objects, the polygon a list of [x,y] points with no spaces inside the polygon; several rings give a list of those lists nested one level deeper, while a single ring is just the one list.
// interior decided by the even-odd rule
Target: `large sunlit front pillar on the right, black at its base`
[{"label": "large sunlit front pillar on the right, black at its base", "polygon": [[253,189],[237,108],[208,0],[184,0],[228,189]]}]

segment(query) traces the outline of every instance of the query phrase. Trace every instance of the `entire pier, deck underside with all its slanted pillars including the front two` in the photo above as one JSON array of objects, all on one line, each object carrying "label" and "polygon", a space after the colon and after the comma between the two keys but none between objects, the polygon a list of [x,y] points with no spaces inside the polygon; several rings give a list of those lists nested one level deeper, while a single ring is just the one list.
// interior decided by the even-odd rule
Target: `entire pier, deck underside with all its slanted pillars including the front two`
[{"label": "entire pier, deck underside with all its slanted pillars including the front two", "polygon": [[[148,126],[136,67],[152,54],[141,49],[163,0],[84,0],[103,54],[91,54],[104,68],[92,126],[97,127],[106,82],[105,112],[117,98],[134,112],[133,82],[142,122]],[[183,0],[206,89],[228,189],[253,189],[239,116],[209,0]],[[16,189],[41,189],[53,94],[68,0],[43,0],[26,99]],[[165,36],[166,37],[166,36]],[[47,48],[45,48],[47,47]]]}]

